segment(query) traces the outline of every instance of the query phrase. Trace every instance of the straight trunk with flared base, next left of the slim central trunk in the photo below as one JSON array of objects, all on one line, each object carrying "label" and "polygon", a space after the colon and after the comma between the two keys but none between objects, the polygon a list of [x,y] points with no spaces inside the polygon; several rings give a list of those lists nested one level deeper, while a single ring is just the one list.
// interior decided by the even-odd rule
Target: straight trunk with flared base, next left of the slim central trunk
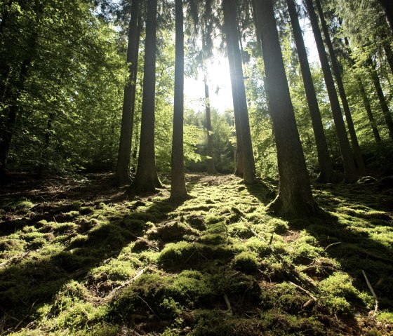
[{"label": "straight trunk with flared base, next left of the slim central trunk", "polygon": [[154,109],[156,90],[157,0],[147,0],[145,66],[143,69],[142,120],[138,167],[131,189],[155,191],[161,187],[156,170],[154,148]]}]

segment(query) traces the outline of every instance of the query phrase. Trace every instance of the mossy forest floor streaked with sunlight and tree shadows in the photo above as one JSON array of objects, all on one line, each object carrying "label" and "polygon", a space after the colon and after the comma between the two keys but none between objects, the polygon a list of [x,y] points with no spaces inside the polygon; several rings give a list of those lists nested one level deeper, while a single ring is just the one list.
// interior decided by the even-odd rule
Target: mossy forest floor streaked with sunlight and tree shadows
[{"label": "mossy forest floor streaked with sunlight and tree shadows", "polygon": [[188,174],[171,203],[108,174],[11,176],[0,335],[393,335],[393,189],[314,184],[326,215],[288,222],[265,182]]}]

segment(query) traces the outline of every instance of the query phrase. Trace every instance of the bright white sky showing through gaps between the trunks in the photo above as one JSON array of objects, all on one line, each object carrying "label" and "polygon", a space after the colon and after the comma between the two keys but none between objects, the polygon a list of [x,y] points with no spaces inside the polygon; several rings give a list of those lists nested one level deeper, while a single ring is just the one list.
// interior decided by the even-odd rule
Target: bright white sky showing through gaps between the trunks
[{"label": "bright white sky showing through gaps between the trunks", "polygon": [[[317,46],[315,45],[314,35],[309,25],[308,19],[300,19],[300,26],[303,30],[303,37],[308,51],[309,62],[319,62]],[[209,90],[211,107],[223,113],[227,109],[233,109],[231,79],[229,76],[229,64],[227,58],[223,56],[215,58],[208,65]],[[185,78],[185,105],[192,108],[195,112],[204,111],[204,76],[200,74],[199,79]]]}]

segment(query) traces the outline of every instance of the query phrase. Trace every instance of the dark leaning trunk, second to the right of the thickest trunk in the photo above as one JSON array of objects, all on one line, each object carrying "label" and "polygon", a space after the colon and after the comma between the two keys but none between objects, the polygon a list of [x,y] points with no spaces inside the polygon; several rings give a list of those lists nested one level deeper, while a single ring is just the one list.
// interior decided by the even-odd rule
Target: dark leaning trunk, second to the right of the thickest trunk
[{"label": "dark leaning trunk, second to the right of the thickest trunk", "polygon": [[340,102],[338,101],[337,91],[335,90],[333,76],[329,66],[328,56],[326,55],[324,41],[322,40],[321,31],[319,30],[317,15],[314,11],[312,0],[305,0],[307,6],[307,12],[309,13],[309,21],[311,22],[312,32],[314,33],[315,43],[319,53],[319,60],[321,62],[322,72],[324,73],[324,79],[326,89],[328,90],[329,100],[331,102],[331,109],[333,113],[333,120],[335,123],[335,130],[338,136],[338,142],[340,144],[340,151],[342,156],[342,163],[344,164],[345,180],[347,182],[355,182],[357,180],[357,169],[354,164],[354,158],[351,152],[351,146],[347,136],[347,130],[345,130],[344,119],[342,118],[342,112]]}]

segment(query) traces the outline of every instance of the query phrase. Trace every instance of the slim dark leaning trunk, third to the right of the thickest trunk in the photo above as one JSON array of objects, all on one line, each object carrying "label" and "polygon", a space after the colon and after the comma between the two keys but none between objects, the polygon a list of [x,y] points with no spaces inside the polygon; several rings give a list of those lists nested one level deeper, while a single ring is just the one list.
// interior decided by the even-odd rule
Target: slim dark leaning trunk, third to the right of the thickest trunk
[{"label": "slim dark leaning trunk, third to the right of the thickest trunk", "polygon": [[319,18],[321,19],[321,27],[322,27],[322,31],[324,32],[326,46],[328,46],[328,51],[331,56],[331,65],[333,69],[333,74],[335,76],[335,82],[337,83],[338,86],[338,93],[340,94],[342,107],[344,109],[345,119],[347,120],[349,136],[351,137],[352,149],[354,151],[354,157],[357,162],[358,173],[359,175],[364,175],[366,173],[366,167],[364,166],[364,159],[363,156],[361,155],[359,142],[357,140],[357,134],[354,128],[354,121],[352,120],[351,110],[349,109],[344,83],[342,83],[340,67],[338,66],[338,60],[335,57],[335,51],[333,49],[331,36],[328,31],[328,25],[326,24],[324,11],[322,10],[321,1],[315,0],[315,3],[317,4],[317,11],[319,13]]}]

